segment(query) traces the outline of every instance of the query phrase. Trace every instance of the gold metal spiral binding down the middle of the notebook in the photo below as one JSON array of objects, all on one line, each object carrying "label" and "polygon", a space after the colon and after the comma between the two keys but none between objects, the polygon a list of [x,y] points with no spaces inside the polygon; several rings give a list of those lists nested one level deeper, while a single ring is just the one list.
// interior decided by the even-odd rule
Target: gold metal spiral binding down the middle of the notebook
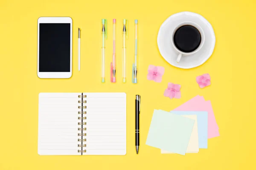
[{"label": "gold metal spiral binding down the middle of the notebook", "polygon": [[86,98],[86,95],[78,95],[78,98],[81,98],[81,100],[78,100],[78,103],[81,103],[81,106],[78,106],[79,109],[81,109],[81,111],[78,111],[79,117],[78,119],[81,120],[81,122],[78,122],[78,125],[81,125],[81,127],[78,127],[77,130],[81,131],[79,132],[77,135],[81,136],[80,139],[77,139],[78,142],[80,142],[80,144],[78,144],[77,146],[80,147],[79,150],[77,150],[78,153],[81,153],[81,155],[83,153],[86,153],[86,150],[83,149],[83,147],[86,147],[86,144],[84,144],[83,142],[86,142],[86,138],[84,136],[86,136],[86,133],[84,133],[84,131],[86,130],[86,127],[83,127],[83,125],[86,125],[86,122],[84,122],[87,118],[86,116],[84,116],[84,114],[86,114],[86,111],[84,111],[87,107],[84,105],[85,103],[87,103],[86,100],[84,100],[84,98]]}]

